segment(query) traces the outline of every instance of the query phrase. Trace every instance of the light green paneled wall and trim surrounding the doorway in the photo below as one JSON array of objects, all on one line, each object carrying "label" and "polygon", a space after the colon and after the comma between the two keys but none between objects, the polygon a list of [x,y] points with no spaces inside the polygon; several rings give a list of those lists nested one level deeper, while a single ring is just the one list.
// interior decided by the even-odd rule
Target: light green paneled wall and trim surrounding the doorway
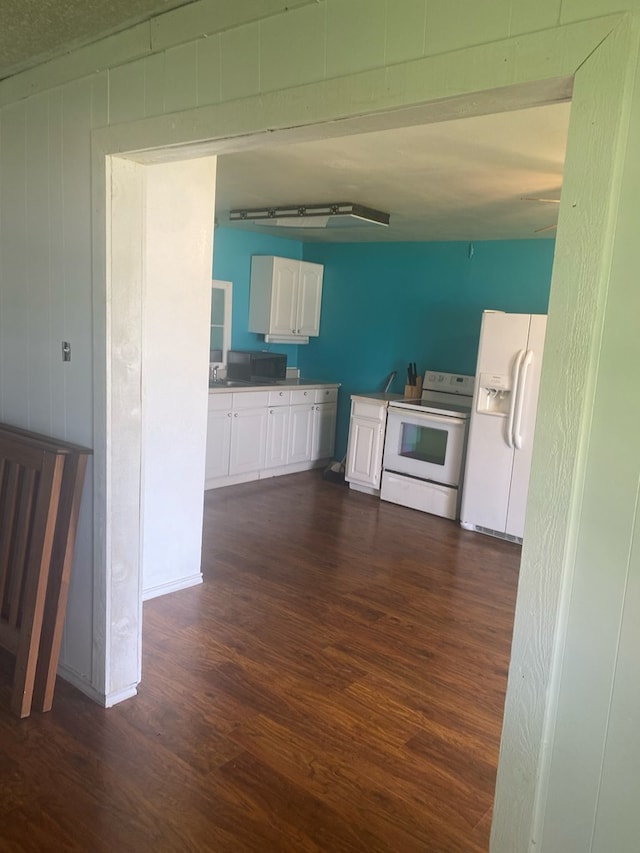
[{"label": "light green paneled wall and trim surrounding the doorway", "polygon": [[[132,332],[109,313],[105,156],[520,107],[566,93],[577,72],[492,850],[525,853],[532,834],[543,853],[635,850],[640,94],[626,75],[639,12],[639,0],[201,0],[0,83],[0,417],[94,438],[79,538],[93,574],[74,577],[79,621],[65,632],[70,670],[82,648],[93,655],[88,690],[121,690],[138,618],[128,560],[109,563],[124,541],[113,483],[136,437],[135,399],[124,411],[110,383],[136,341],[108,336]],[[51,354],[62,338],[80,355],[64,373]]]}]

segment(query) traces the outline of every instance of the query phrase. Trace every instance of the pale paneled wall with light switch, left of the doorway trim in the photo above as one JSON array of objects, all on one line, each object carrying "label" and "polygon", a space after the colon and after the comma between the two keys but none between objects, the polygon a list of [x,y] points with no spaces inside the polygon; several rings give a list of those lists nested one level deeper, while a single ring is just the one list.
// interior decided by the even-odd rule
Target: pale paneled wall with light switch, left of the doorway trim
[{"label": "pale paneled wall with light switch, left of the doorway trim", "polygon": [[[0,111],[0,420],[94,447],[91,136],[108,75]],[[62,362],[61,342],[71,343]],[[95,677],[93,460],[83,493],[61,660]]]}]

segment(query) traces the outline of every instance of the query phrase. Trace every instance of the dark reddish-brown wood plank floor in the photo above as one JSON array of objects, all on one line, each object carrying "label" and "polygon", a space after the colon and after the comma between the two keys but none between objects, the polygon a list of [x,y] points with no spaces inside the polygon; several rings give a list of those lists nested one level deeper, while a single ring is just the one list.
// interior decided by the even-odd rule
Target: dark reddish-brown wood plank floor
[{"label": "dark reddish-brown wood plank floor", "polygon": [[324,482],[208,492],[139,695],[5,710],[0,850],[484,853],[520,550]]}]

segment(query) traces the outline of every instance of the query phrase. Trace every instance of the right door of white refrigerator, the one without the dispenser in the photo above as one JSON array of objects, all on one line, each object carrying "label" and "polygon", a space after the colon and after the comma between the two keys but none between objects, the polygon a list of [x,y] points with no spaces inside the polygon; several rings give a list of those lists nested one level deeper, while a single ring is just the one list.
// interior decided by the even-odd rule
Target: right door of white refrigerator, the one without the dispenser
[{"label": "right door of white refrigerator, the one without the dispenser", "polygon": [[538,391],[540,389],[540,371],[544,350],[544,336],[547,318],[543,314],[533,314],[529,326],[527,353],[530,353],[530,364],[526,373],[521,377],[520,394],[516,402],[516,423],[521,446],[516,448],[513,455],[513,473],[509,492],[509,506],[505,532],[510,536],[522,539],[524,534],[524,518],[527,508],[529,491],[529,475],[531,472],[531,451],[533,435],[536,427],[536,412],[538,408]]}]

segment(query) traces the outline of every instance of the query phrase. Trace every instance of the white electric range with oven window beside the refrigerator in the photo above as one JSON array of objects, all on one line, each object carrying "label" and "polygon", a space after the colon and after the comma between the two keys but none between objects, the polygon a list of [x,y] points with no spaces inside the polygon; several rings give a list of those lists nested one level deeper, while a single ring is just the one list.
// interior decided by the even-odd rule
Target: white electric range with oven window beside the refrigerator
[{"label": "white electric range with oven window beside the refrigerator", "polygon": [[474,383],[474,376],[427,371],[420,398],[389,404],[382,500],[459,518]]}]

